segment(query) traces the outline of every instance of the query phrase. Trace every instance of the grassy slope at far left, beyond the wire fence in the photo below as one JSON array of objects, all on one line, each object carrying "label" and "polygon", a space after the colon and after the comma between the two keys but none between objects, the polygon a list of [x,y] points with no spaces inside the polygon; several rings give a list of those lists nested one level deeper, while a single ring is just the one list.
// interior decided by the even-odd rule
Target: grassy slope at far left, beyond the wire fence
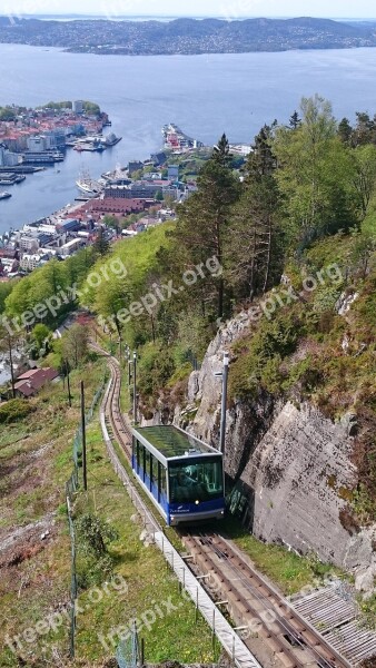
[{"label": "grassy slope at far left, beyond the wire fence", "polygon": [[[87,403],[103,376],[105,362],[86,365],[85,372],[71,374],[72,407],[68,406],[62,383],[51,385],[31,399],[33,412],[17,424],[2,425],[0,435],[0,531],[7,538],[47,513],[56,512],[50,538],[18,543],[13,556],[18,566],[4,567],[0,580],[0,608],[4,623],[0,628],[0,666],[18,666],[14,655],[4,647],[4,637],[20,633],[47,613],[68,602],[70,587],[70,540],[63,513],[65,483],[72,470],[72,436],[79,422],[79,382],[86,381]],[[68,622],[57,636],[46,637],[47,652],[55,644],[67,649]],[[28,661],[34,649],[26,644]],[[38,648],[41,661],[43,649]],[[44,665],[39,662],[38,665]]]}]

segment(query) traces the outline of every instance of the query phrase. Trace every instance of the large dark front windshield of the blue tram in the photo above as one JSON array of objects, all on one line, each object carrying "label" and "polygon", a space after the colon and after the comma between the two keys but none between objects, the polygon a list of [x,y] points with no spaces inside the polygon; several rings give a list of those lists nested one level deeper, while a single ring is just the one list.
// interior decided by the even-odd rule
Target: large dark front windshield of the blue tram
[{"label": "large dark front windshield of the blue tram", "polygon": [[169,462],[170,502],[195,503],[224,495],[221,459]]}]

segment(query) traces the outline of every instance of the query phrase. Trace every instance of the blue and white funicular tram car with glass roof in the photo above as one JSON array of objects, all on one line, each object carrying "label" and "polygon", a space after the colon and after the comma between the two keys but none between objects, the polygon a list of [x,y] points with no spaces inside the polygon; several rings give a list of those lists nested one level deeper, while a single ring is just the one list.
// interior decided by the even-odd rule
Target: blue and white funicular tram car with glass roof
[{"label": "blue and white funicular tram car with glass roof", "polygon": [[224,518],[222,455],[181,429],[132,429],[132,470],[167,524]]}]

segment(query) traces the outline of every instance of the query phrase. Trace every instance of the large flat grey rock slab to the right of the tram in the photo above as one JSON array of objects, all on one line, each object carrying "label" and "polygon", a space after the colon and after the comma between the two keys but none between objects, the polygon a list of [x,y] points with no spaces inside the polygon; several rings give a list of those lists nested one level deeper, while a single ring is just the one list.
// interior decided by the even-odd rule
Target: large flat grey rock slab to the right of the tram
[{"label": "large flat grey rock slab to the right of the tram", "polygon": [[255,490],[255,536],[342,566],[350,536],[339,513],[356,484],[352,448],[343,426],[287,403],[241,474]]}]

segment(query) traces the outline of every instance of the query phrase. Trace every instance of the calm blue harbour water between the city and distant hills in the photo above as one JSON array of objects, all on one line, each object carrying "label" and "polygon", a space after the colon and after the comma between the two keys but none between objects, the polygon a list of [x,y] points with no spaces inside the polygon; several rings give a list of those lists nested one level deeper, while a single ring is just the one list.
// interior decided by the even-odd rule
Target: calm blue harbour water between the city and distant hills
[{"label": "calm blue harbour water between the city and distant hills", "polygon": [[[57,71],[61,72],[58,81]],[[0,234],[75,203],[76,180],[82,170],[97,180],[118,164],[146,159],[160,148],[160,128],[169,119],[209,146],[224,130],[234,144],[249,143],[265,122],[275,118],[284,122],[298,108],[301,95],[315,91],[333,102],[338,118],[354,118],[357,100],[374,112],[375,76],[375,51],[367,48],[152,59],[50,49],[46,59],[42,48],[0,45],[0,104],[12,100],[37,107],[49,99],[91,99],[111,120],[103,134],[111,130],[122,137],[105,151],[68,148],[63,161],[37,167],[39,171],[12,186],[13,196],[1,202]],[[167,94],[171,80],[174,92]],[[197,95],[198,90],[205,92]]]}]

